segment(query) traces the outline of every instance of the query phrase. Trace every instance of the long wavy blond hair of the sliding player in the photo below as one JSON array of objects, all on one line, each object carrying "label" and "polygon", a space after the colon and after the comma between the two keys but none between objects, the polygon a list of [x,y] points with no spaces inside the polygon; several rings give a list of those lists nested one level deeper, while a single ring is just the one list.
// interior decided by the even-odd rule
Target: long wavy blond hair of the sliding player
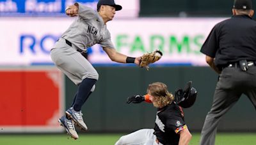
[{"label": "long wavy blond hair of the sliding player", "polygon": [[167,86],[161,82],[148,85],[147,92],[154,97],[153,104],[155,107],[164,107],[174,100],[172,93],[168,92]]}]

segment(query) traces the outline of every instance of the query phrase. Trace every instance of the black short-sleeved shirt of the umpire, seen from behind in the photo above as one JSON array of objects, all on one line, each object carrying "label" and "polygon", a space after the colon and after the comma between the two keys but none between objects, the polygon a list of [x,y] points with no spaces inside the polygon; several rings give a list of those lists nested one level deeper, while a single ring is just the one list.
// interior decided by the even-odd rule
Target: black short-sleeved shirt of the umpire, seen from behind
[{"label": "black short-sleeved shirt of the umpire, seen from behind", "polygon": [[256,22],[248,15],[234,15],[216,24],[200,52],[215,58],[218,67],[239,60],[256,60]]}]

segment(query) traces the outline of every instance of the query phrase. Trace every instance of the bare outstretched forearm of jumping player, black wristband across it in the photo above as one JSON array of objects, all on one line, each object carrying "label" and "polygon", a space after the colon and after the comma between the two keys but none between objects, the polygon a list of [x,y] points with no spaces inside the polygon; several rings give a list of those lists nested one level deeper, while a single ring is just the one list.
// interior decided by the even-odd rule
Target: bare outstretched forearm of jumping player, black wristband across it
[{"label": "bare outstretched forearm of jumping player, black wristband across it", "polygon": [[[119,62],[119,63],[127,63],[127,55],[124,55],[122,53],[116,52],[115,49],[113,48],[107,48],[104,47],[103,50],[108,54],[108,57],[114,61],[114,62]],[[139,65],[140,64],[141,57],[136,57],[134,59],[134,64]]]}]

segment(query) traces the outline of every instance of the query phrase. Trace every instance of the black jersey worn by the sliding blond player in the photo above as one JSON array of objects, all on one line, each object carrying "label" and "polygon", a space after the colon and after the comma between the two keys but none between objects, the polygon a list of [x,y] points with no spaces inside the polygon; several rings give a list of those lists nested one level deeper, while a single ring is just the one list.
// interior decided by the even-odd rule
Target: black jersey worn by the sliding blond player
[{"label": "black jersey worn by the sliding blond player", "polygon": [[157,109],[154,134],[162,144],[179,144],[180,135],[178,133],[186,127],[182,108],[174,102]]}]

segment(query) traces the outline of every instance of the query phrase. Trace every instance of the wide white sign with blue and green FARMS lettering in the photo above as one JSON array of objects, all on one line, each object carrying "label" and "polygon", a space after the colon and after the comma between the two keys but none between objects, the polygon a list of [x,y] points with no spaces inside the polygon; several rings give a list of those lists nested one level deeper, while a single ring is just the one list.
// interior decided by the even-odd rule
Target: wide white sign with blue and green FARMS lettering
[{"label": "wide white sign with blue and green FARMS lettering", "polygon": [[[0,65],[52,64],[50,50],[73,18],[1,18]],[[108,23],[118,52],[131,57],[156,49],[157,64],[205,66],[200,48],[224,18],[136,18]],[[99,45],[89,49],[92,64],[115,64]]]}]

